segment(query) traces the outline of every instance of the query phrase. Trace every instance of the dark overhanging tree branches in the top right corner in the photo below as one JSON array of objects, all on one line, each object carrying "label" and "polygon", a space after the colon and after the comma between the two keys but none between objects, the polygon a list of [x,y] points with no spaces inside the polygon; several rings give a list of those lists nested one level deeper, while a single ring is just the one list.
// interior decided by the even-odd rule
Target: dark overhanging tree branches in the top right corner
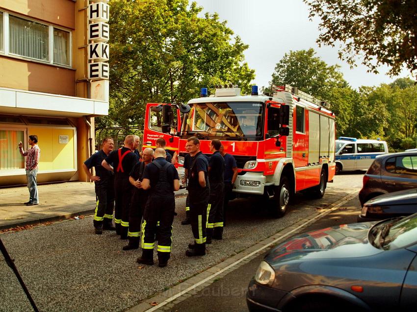
[{"label": "dark overhanging tree branches in the top right corner", "polygon": [[310,19],[321,19],[317,43],[341,43],[339,58],[351,66],[358,55],[370,72],[387,65],[391,75],[402,67],[417,73],[417,5],[407,0],[304,0]]}]

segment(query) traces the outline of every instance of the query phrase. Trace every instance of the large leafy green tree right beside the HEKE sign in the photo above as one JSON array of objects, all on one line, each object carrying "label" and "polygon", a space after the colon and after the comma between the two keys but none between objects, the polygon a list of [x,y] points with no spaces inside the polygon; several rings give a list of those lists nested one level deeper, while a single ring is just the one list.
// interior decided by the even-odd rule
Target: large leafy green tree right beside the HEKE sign
[{"label": "large leafy green tree right beside the HEKE sign", "polygon": [[188,0],[110,0],[109,116],[115,124],[143,128],[146,103],[186,102],[201,87],[233,82],[250,92],[255,77],[239,36],[216,14]]}]

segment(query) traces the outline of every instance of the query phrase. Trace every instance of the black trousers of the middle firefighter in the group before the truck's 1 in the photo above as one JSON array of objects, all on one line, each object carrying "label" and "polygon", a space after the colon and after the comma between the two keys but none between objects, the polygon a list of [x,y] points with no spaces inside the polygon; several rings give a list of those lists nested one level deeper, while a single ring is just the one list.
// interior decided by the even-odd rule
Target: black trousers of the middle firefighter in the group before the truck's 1
[{"label": "black trousers of the middle firefighter in the group before the truck's 1", "polygon": [[[210,182],[207,228],[223,226],[224,184]],[[221,224],[221,225],[220,225]]]}]

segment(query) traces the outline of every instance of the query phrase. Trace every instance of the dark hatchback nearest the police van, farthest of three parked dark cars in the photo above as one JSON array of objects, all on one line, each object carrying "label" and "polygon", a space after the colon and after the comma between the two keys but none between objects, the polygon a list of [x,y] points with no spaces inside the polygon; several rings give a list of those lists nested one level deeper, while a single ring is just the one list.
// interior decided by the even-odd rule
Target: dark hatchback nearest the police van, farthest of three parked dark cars
[{"label": "dark hatchback nearest the police van, farthest of three parked dark cars", "polygon": [[417,188],[417,152],[379,155],[364,175],[359,201],[396,191]]}]

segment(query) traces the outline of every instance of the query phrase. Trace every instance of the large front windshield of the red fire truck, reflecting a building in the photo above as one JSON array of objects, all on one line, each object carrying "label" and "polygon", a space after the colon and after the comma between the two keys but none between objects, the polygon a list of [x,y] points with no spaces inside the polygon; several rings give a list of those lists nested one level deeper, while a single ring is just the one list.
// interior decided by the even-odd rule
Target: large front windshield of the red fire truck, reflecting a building
[{"label": "large front windshield of the red fire truck, reflecting a building", "polygon": [[261,102],[195,103],[183,116],[181,136],[258,141],[262,137],[262,115]]}]

